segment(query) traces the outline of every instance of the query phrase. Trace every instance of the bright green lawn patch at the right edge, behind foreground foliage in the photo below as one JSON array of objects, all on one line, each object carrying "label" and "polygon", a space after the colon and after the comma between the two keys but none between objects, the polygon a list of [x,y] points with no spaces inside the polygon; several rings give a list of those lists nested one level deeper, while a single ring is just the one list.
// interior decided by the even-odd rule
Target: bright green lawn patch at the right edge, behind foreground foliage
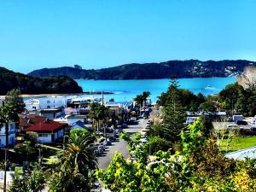
[{"label": "bright green lawn patch at the right edge, behind foreground foliage", "polygon": [[[224,139],[223,142],[220,143],[222,150],[226,150],[226,143],[228,143],[227,139]],[[228,152],[236,151],[242,148],[250,148],[253,146],[256,146],[256,137],[236,137],[230,141]]]}]

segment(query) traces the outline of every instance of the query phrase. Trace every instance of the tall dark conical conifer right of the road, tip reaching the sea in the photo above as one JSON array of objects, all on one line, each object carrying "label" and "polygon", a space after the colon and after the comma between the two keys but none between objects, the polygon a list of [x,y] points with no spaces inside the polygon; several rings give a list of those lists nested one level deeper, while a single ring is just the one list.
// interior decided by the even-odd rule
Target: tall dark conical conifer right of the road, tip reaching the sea
[{"label": "tall dark conical conifer right of the road, tip reaching the sea", "polygon": [[166,106],[163,109],[163,118],[164,138],[172,143],[177,142],[185,122],[183,107],[177,99],[177,79],[171,79],[171,85],[167,91]]}]

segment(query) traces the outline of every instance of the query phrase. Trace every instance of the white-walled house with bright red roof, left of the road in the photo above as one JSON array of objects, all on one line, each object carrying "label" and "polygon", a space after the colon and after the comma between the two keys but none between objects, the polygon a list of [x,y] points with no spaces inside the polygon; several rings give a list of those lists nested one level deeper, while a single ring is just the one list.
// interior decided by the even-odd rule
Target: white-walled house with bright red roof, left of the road
[{"label": "white-walled house with bright red roof, left of the road", "polygon": [[57,139],[63,137],[67,127],[67,124],[61,124],[58,122],[45,122],[27,127],[26,132],[37,132],[38,143],[55,143]]}]

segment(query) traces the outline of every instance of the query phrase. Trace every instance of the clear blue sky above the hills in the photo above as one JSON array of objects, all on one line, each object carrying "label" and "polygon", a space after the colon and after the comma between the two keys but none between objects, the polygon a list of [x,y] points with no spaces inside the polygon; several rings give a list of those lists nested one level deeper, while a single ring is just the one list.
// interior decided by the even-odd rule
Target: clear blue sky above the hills
[{"label": "clear blue sky above the hills", "polygon": [[256,61],[255,0],[1,0],[0,66]]}]

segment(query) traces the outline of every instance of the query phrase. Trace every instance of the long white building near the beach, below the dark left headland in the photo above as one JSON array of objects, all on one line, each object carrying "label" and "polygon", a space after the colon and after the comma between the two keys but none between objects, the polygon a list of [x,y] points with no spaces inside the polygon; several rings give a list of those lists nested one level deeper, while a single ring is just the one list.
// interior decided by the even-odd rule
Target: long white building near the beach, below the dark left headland
[{"label": "long white building near the beach, below the dark left headland", "polygon": [[28,111],[36,111],[46,108],[67,108],[66,96],[45,96],[42,98],[32,98],[25,101],[26,109]]}]

